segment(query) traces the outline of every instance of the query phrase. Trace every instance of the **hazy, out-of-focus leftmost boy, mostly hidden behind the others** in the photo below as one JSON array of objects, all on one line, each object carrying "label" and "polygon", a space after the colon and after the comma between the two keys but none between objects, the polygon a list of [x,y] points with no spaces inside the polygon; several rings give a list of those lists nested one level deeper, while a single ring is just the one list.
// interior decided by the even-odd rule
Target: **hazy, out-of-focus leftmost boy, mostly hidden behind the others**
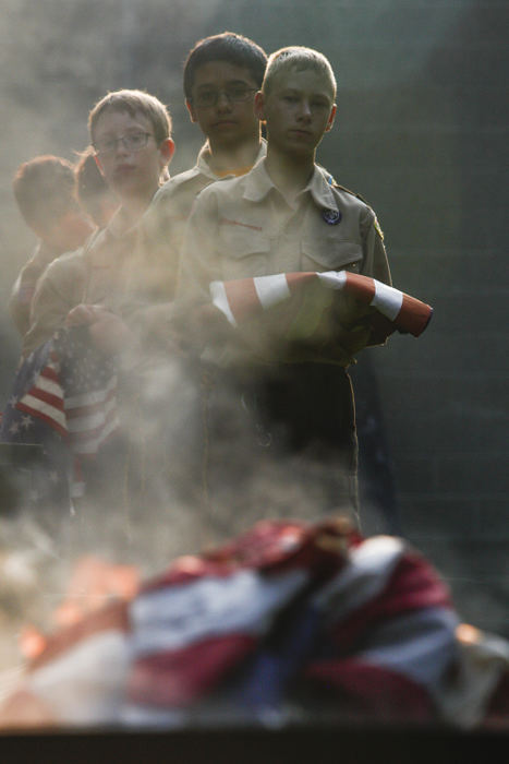
[{"label": "hazy, out-of-focus leftmost boy, mostly hidden behind the others", "polygon": [[94,230],[76,199],[74,168],[60,156],[44,155],[17,168],[12,190],[26,225],[38,238],[35,252],[21,270],[9,299],[9,311],[24,335],[29,327],[36,284],[56,258],[81,247]]}]

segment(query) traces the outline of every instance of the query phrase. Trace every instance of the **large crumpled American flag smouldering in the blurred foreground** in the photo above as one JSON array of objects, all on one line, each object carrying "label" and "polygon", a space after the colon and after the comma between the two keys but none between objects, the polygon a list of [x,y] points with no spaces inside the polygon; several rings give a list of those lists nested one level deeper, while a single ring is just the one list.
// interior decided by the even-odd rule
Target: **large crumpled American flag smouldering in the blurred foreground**
[{"label": "large crumpled American flag smouldering in the blurred foreground", "polygon": [[480,724],[509,646],[477,633],[469,664],[458,633],[447,587],[403,540],[264,521],[50,637],[20,691],[61,725],[282,721],[295,707]]}]

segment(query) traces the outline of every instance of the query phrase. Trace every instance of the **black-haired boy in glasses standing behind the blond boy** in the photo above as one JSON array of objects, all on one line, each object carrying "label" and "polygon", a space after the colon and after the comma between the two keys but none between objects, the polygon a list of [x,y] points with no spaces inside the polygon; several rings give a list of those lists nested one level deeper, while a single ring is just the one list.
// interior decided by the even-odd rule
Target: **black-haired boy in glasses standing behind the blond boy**
[{"label": "black-haired boy in glasses standing behind the blond boy", "polygon": [[142,227],[153,266],[169,274],[173,289],[185,223],[196,194],[219,178],[247,172],[265,155],[254,96],[266,63],[267,56],[256,43],[232,32],[198,40],[187,55],[185,105],[206,141],[196,165],[158,191]]}]

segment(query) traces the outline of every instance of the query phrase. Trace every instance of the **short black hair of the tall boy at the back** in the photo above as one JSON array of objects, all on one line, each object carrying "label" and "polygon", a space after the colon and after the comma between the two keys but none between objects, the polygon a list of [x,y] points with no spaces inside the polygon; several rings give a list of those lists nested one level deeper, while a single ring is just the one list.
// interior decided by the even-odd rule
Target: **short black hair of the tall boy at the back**
[{"label": "short black hair of the tall boy at the back", "polygon": [[190,50],[184,63],[184,96],[191,98],[196,69],[211,61],[227,61],[247,69],[257,87],[260,87],[267,53],[249,37],[234,32],[222,32],[198,40]]}]

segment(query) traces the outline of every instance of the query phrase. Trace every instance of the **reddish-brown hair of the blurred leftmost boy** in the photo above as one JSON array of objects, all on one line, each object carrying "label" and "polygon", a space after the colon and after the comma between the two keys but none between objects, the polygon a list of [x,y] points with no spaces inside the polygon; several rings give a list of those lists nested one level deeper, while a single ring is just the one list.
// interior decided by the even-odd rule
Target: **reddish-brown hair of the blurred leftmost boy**
[{"label": "reddish-brown hair of the blurred leftmost boy", "polygon": [[25,223],[48,227],[77,207],[73,165],[45,154],[24,162],[12,180],[12,190]]}]

